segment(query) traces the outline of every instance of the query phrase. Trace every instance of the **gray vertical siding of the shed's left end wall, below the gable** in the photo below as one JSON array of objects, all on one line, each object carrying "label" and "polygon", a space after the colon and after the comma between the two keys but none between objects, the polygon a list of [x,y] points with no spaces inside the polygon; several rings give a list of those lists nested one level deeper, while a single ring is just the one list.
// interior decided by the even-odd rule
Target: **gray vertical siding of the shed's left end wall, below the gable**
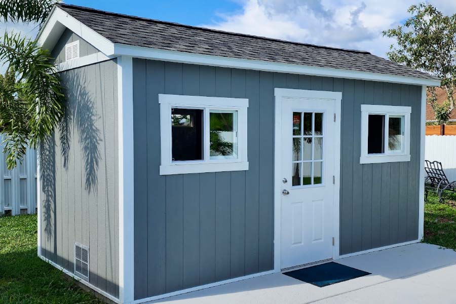
[{"label": "gray vertical siding of the shed's left end wall, below the gable", "polygon": [[73,272],[74,243],[89,246],[90,283],[118,297],[117,64],[60,75],[65,119],[41,145],[42,254]]}]

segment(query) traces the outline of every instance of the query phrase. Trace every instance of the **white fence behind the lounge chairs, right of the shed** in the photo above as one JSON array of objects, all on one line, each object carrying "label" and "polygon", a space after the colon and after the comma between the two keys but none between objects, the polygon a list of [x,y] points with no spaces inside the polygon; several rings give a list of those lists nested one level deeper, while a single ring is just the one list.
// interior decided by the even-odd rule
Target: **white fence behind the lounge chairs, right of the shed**
[{"label": "white fence behind the lounge chairs, right of the shed", "polygon": [[449,181],[456,180],[456,136],[426,136],[425,159],[439,161]]}]

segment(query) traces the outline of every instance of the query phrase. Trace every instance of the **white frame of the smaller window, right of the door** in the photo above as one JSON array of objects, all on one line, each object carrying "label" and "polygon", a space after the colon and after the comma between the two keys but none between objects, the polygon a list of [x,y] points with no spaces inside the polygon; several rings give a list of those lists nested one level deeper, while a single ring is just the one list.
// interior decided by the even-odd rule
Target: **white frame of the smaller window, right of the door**
[{"label": "white frame of the smaller window, right of the door", "polygon": [[[409,106],[361,104],[361,156],[360,164],[393,163],[410,161],[410,113]],[[385,115],[384,153],[367,154],[368,118],[370,114]],[[389,117],[403,117],[404,141],[400,151],[388,149]]]}]

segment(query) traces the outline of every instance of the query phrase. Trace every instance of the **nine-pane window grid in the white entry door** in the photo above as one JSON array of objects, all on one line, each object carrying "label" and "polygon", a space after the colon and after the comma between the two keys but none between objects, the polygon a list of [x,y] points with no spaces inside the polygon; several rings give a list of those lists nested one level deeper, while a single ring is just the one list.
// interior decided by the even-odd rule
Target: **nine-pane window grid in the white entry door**
[{"label": "nine-pane window grid in the white entry door", "polygon": [[323,184],[324,113],[293,112],[292,186]]}]

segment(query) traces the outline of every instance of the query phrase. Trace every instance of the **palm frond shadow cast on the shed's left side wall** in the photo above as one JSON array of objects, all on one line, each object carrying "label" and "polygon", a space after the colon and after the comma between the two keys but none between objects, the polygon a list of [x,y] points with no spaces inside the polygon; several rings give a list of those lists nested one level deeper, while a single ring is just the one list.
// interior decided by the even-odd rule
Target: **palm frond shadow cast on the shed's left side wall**
[{"label": "palm frond shadow cast on the shed's left side wall", "polygon": [[[84,187],[88,193],[97,189],[97,171],[100,160],[99,142],[100,132],[97,129],[97,112],[95,96],[89,96],[85,86],[86,74],[77,69],[60,74],[65,87],[64,118],[59,123],[56,132],[41,142],[40,178],[42,183],[43,223],[46,237],[51,240],[54,236],[54,252],[56,253],[56,227],[53,220],[56,218],[56,140],[59,140],[61,150],[61,170],[68,170],[70,149],[73,132],[79,134],[79,144],[84,163]],[[94,94],[93,94],[94,95]],[[58,137],[58,138],[57,138]]]}]

